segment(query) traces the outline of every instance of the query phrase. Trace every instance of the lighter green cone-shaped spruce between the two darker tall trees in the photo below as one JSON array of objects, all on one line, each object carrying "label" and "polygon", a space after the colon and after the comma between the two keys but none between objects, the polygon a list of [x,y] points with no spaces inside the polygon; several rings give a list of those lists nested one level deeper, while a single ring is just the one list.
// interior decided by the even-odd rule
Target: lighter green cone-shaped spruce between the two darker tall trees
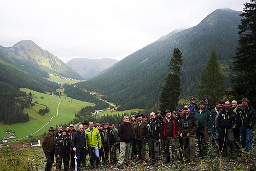
[{"label": "lighter green cone-shaped spruce between the two darker tall trees", "polygon": [[220,62],[218,61],[215,49],[213,49],[199,80],[198,98],[208,97],[212,102],[218,101],[225,94],[224,81]]}]

